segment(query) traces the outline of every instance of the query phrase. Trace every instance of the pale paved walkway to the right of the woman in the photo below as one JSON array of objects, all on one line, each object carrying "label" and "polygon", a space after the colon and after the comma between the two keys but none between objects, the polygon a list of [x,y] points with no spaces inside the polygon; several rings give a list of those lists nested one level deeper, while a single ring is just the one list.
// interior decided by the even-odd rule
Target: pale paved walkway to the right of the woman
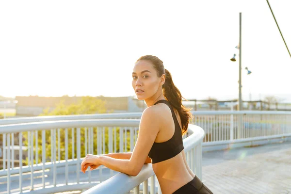
[{"label": "pale paved walkway to the right of the woman", "polygon": [[291,142],[203,153],[214,194],[291,194]]}]

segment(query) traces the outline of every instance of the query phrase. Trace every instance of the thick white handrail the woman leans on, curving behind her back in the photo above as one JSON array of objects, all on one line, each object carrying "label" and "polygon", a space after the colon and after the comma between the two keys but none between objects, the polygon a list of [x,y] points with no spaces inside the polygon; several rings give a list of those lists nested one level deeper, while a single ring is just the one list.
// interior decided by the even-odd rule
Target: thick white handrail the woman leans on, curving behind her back
[{"label": "thick white handrail the woman leans on, curving behind her back", "polygon": [[[189,124],[188,130],[192,132],[192,134],[183,140],[183,144],[185,147],[185,152],[199,144],[204,138],[204,130],[198,126]],[[154,171],[152,169],[152,164],[144,164],[141,172],[136,176],[132,177],[123,173],[118,173],[105,180],[104,182],[92,187],[91,189],[83,192],[82,194],[121,194],[127,193],[134,187],[140,185],[146,179],[150,178],[154,175]],[[112,186],[114,185],[114,187]]]}]

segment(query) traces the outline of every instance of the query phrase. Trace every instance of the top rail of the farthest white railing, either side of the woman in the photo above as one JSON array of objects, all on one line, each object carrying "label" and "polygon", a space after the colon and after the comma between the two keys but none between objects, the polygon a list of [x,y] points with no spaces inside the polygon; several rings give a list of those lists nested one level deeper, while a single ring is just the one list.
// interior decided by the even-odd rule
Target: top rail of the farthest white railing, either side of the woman
[{"label": "top rail of the farthest white railing, either side of the woman", "polygon": [[[219,115],[219,114],[276,114],[291,115],[291,111],[192,111],[193,115]],[[84,120],[84,119],[125,119],[129,117],[141,117],[142,113],[102,113],[102,114],[78,114],[78,115],[57,115],[57,116],[32,116],[21,118],[0,119],[1,125],[11,125],[18,123],[32,123],[42,121],[61,120]]]}]

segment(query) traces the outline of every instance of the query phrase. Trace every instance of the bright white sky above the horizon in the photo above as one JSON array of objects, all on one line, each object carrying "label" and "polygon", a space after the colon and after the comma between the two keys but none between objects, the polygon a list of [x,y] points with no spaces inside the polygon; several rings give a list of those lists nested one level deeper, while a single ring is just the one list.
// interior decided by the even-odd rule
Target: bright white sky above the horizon
[{"label": "bright white sky above the horizon", "polygon": [[[291,49],[291,1],[269,2]],[[0,1],[0,95],[135,96],[134,62],[152,54],[184,97],[237,98],[239,12],[243,100],[291,101],[291,58],[266,0]]]}]

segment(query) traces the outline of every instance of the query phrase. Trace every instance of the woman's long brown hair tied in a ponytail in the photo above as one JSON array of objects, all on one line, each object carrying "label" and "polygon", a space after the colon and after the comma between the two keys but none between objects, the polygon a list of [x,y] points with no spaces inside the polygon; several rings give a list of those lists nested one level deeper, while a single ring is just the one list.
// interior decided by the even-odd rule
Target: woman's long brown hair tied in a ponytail
[{"label": "woman's long brown hair tied in a ponytail", "polygon": [[151,62],[157,70],[158,77],[161,77],[162,74],[166,75],[165,83],[162,85],[162,93],[165,99],[168,100],[170,104],[178,111],[182,123],[182,135],[184,135],[188,129],[189,119],[192,119],[192,114],[190,113],[191,109],[187,109],[182,104],[182,95],[175,86],[171,73],[164,68],[162,60],[156,56],[145,55],[140,57],[136,62],[141,60]]}]

